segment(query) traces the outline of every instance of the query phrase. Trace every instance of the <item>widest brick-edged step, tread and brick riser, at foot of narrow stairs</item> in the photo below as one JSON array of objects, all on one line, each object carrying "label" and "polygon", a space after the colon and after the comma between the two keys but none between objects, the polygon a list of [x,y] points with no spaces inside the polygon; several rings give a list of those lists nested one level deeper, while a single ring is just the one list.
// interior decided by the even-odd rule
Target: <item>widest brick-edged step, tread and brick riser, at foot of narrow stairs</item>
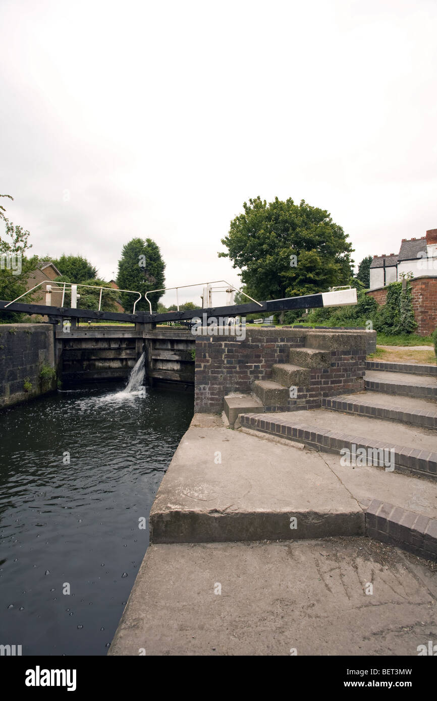
[{"label": "widest brick-edged step, tread and brick riser, at foot of narrow stairs", "polygon": [[384,467],[383,454],[372,453],[372,450],[392,450],[390,457],[393,457],[394,470],[437,479],[436,437],[424,428],[403,426],[399,435],[391,421],[343,416],[327,409],[244,414],[240,421],[242,428],[269,433],[330,453],[339,454],[346,448],[353,454],[355,446],[356,454],[358,449],[364,448],[368,464],[379,467]]}]

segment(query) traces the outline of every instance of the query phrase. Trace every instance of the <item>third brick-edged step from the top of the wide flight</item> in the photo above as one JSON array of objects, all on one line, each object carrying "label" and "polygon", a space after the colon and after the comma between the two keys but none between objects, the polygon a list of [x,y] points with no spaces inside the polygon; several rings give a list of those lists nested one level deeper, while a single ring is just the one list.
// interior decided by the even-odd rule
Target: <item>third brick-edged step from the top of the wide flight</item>
[{"label": "third brick-edged step from the top of the wide flight", "polygon": [[437,406],[426,400],[361,392],[351,395],[323,397],[322,407],[354,416],[383,418],[422,428],[437,429]]}]

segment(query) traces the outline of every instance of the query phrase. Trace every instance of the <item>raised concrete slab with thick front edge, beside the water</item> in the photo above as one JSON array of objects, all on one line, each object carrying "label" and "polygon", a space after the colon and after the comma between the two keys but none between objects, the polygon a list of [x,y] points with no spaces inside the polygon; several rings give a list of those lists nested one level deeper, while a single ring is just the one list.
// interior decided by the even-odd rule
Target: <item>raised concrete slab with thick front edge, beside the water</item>
[{"label": "raised concrete slab with thick front edge, beside the water", "polygon": [[150,512],[153,543],[361,533],[363,510],[318,454],[227,428],[189,428]]}]

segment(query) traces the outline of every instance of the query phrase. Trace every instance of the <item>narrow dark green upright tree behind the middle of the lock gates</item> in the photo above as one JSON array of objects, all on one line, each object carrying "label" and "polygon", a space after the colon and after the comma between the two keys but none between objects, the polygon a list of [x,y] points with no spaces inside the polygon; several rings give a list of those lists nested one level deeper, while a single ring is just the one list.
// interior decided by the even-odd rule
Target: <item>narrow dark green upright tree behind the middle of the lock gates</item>
[{"label": "narrow dark green upright tree behind the middle of the lock gates", "polygon": [[[149,304],[144,299],[145,292],[160,290],[165,285],[164,271],[166,264],[161,257],[159,246],[151,239],[133,238],[121,251],[119,273],[116,283],[121,290],[137,290],[142,299],[138,302],[138,311],[149,311]],[[155,311],[163,292],[154,292],[149,296],[152,310]],[[133,308],[135,296],[126,292],[120,293],[121,304],[126,311]]]}]

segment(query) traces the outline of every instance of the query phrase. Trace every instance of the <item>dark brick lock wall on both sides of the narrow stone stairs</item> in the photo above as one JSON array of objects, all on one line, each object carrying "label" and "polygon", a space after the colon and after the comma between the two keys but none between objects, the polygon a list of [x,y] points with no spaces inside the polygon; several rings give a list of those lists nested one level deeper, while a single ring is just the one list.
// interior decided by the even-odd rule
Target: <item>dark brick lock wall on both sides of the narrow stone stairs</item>
[{"label": "dark brick lock wall on both sides of the narrow stone stairs", "polygon": [[[196,339],[194,411],[222,411],[231,393],[250,394],[255,380],[271,379],[275,363],[288,363],[290,348],[304,348],[314,329],[247,329],[244,341],[220,336]],[[338,336],[337,336],[338,337]],[[308,386],[297,397],[267,411],[293,411],[321,407],[321,398],[364,390],[366,333],[342,333],[342,345],[330,349],[329,368],[311,369]]]}]

